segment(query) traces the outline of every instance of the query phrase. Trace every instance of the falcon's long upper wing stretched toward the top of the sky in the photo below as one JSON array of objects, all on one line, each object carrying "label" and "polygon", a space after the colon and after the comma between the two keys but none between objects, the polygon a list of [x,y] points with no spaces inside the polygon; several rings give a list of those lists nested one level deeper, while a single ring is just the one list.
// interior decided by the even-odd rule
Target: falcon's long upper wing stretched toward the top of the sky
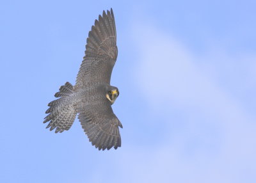
[{"label": "falcon's long upper wing stretched toward the top of the sky", "polygon": [[110,83],[112,69],[117,58],[116,26],[113,10],[104,11],[89,32],[86,51],[77,74],[76,88],[83,88],[86,83]]}]

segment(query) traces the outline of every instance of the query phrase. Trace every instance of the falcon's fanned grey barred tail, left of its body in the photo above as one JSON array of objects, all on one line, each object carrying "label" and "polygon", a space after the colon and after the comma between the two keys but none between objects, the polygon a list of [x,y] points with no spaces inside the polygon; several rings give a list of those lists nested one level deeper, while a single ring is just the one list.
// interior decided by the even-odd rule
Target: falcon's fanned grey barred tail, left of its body
[{"label": "falcon's fanned grey barred tail, left of its body", "polygon": [[72,100],[73,93],[72,84],[67,82],[60,87],[60,92],[54,95],[54,97],[60,97],[60,99],[53,100],[48,104],[49,109],[45,113],[49,113],[49,115],[44,118],[44,123],[49,122],[46,128],[51,127],[50,131],[55,128],[56,133],[67,131],[74,123],[76,110]]}]

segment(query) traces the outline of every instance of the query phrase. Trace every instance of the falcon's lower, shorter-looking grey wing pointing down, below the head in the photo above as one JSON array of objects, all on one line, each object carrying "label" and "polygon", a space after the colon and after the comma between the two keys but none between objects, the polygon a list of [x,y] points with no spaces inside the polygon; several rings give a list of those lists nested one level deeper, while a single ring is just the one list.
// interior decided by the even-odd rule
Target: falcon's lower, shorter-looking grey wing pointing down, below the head
[{"label": "falcon's lower, shorter-looking grey wing pointing down, below the head", "polygon": [[82,104],[77,109],[78,118],[89,141],[99,150],[121,147],[119,128],[122,123],[113,113],[108,99],[99,99],[94,104]]}]

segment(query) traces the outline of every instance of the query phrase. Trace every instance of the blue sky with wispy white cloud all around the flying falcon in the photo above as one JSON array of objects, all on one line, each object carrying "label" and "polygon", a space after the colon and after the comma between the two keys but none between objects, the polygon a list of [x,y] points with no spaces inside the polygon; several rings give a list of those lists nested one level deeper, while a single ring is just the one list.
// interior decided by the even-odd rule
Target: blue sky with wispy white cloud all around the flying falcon
[{"label": "blue sky with wispy white cloud all around the flying falcon", "polygon": [[[0,3],[0,182],[256,182],[254,1]],[[122,147],[45,129],[88,31],[113,8]]]}]

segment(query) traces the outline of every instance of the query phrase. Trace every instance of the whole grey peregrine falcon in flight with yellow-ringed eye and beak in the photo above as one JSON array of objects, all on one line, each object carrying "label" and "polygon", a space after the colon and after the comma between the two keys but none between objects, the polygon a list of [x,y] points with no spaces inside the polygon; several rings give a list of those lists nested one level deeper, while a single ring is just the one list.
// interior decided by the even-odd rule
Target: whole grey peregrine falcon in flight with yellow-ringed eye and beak
[{"label": "whole grey peregrine falcon in flight with yellow-ringed eye and beak", "polygon": [[86,51],[76,77],[76,85],[65,83],[48,104],[44,123],[55,132],[68,131],[78,113],[79,122],[89,141],[99,150],[121,147],[122,123],[111,105],[119,90],[110,85],[117,58],[116,26],[113,10],[103,11],[95,20],[86,40]]}]

